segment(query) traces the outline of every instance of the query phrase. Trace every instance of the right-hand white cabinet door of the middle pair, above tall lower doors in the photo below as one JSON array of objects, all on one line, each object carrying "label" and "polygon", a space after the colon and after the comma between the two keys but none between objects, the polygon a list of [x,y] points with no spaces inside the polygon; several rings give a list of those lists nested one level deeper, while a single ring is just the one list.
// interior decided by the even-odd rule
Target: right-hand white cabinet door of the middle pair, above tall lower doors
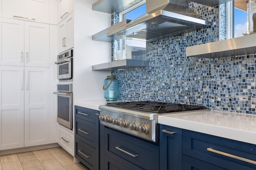
[{"label": "right-hand white cabinet door of the middle pair, above tall lower doors", "polygon": [[25,66],[49,67],[49,25],[25,21]]}]

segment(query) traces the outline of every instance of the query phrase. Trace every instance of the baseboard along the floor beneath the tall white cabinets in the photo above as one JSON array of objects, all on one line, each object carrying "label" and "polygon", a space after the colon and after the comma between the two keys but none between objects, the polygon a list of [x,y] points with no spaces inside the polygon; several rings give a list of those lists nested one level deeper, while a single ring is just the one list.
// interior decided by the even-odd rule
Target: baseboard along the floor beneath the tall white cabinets
[{"label": "baseboard along the floor beneath the tall white cabinets", "polygon": [[14,154],[14,153],[20,153],[20,152],[28,152],[28,151],[40,150],[40,149],[50,149],[50,148],[56,148],[56,147],[60,147],[60,145],[58,143],[51,143],[51,144],[38,145],[38,146],[33,146],[33,147],[24,147],[24,148],[0,150],[0,155]]}]

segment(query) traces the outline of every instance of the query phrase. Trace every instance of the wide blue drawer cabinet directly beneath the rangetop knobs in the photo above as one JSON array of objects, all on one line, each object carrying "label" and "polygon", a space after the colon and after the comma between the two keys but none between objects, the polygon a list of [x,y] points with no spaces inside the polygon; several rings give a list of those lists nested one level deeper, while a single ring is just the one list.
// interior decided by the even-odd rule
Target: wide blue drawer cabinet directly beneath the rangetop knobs
[{"label": "wide blue drawer cabinet directly beneath the rangetop knobs", "polygon": [[104,128],[105,170],[158,170],[159,146]]}]

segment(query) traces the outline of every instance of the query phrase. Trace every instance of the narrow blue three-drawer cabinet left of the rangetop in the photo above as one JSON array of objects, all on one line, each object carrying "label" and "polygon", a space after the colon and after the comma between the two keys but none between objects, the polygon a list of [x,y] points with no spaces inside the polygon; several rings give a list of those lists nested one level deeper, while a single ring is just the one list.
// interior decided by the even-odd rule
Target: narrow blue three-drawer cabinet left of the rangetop
[{"label": "narrow blue three-drawer cabinet left of the rangetop", "polygon": [[75,106],[75,157],[90,170],[99,170],[99,113]]}]

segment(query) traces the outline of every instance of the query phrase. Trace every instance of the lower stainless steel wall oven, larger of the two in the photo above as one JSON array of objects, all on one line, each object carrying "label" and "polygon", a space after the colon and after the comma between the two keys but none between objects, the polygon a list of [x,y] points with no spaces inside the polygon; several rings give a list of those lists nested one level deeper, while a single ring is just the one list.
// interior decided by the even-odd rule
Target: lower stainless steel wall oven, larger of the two
[{"label": "lower stainless steel wall oven, larger of the two", "polygon": [[73,84],[57,84],[57,90],[57,122],[72,129]]}]

